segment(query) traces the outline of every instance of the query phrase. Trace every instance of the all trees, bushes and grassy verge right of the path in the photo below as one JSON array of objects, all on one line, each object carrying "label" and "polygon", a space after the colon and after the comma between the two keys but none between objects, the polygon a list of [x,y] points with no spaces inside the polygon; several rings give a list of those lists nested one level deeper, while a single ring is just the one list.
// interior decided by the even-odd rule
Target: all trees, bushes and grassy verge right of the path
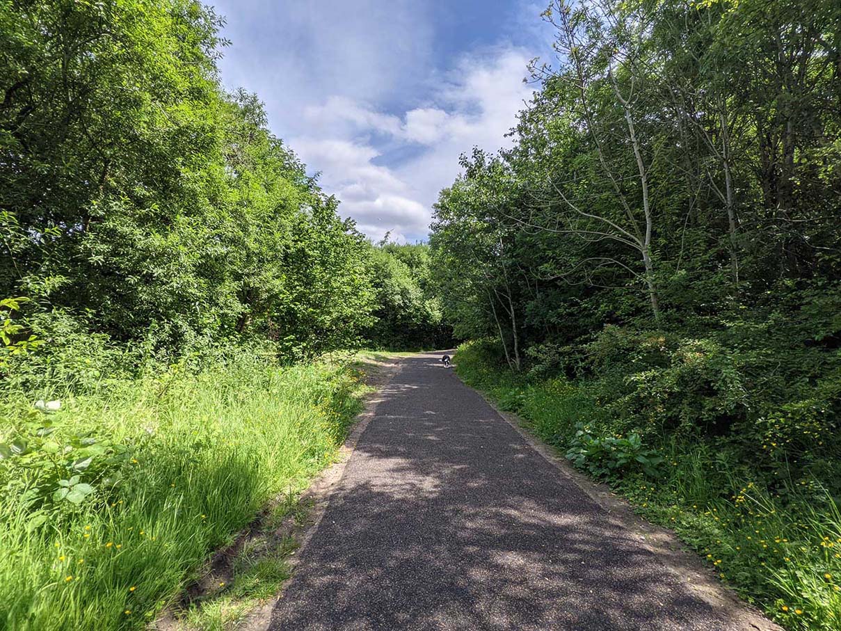
[{"label": "all trees, bushes and grassy verge right of the path", "polygon": [[443,312],[498,340],[458,371],[787,627],[838,628],[841,5],[542,17],[513,146],[436,205]]}]

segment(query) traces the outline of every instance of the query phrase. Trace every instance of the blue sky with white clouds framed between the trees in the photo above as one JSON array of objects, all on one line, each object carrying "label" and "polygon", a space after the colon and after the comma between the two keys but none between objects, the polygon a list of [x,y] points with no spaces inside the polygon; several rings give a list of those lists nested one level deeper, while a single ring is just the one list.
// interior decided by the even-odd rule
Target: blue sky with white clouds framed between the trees
[{"label": "blue sky with white clouds framed between the trees", "polygon": [[374,241],[424,241],[473,146],[496,151],[547,59],[544,0],[207,0],[220,72]]}]

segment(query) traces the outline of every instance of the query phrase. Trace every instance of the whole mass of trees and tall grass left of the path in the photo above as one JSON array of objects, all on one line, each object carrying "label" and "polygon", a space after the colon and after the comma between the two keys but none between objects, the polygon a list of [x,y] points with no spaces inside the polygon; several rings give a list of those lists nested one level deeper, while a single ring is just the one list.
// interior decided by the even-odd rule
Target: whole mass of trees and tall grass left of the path
[{"label": "whole mass of trees and tall grass left of the path", "polygon": [[[424,248],[374,266],[221,87],[221,24],[195,0],[0,3],[0,627],[144,628],[335,453],[357,381],[294,360],[446,331]],[[286,572],[251,570],[255,597]]]}]

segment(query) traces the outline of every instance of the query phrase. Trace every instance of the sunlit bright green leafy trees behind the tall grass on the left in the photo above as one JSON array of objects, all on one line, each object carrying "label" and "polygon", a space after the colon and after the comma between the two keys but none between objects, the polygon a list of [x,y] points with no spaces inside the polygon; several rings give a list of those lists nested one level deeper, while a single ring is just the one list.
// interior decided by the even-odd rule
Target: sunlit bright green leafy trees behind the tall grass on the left
[{"label": "sunlit bright green leafy trees behind the tall grass on the left", "polygon": [[57,347],[299,358],[370,324],[362,236],[262,103],[222,90],[220,24],[193,0],[0,6],[0,295]]}]

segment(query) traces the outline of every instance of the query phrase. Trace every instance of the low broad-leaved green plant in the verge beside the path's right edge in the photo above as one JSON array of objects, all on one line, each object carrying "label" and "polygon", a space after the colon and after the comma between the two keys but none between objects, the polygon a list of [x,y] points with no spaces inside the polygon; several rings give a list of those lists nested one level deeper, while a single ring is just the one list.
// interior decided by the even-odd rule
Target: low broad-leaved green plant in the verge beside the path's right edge
[{"label": "low broad-leaved green plant in the verge beside the path's right edge", "polygon": [[653,478],[660,476],[663,457],[643,446],[639,434],[627,437],[596,437],[590,429],[578,424],[566,456],[576,468],[585,469],[597,478],[611,479],[621,474],[642,471]]}]

